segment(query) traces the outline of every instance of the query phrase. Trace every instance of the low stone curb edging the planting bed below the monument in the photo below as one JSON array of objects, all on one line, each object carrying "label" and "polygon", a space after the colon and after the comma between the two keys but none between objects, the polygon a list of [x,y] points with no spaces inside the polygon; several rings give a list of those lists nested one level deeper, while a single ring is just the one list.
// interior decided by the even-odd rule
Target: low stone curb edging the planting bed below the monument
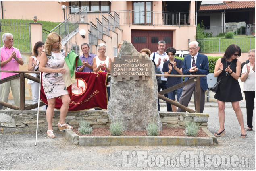
[{"label": "low stone curb edging the planting bed below the monument", "polygon": [[[79,146],[212,146],[217,138],[202,128],[207,137],[168,137],[168,136],[78,136],[72,130],[64,130],[64,137]],[[215,139],[214,139],[215,138]]]}]

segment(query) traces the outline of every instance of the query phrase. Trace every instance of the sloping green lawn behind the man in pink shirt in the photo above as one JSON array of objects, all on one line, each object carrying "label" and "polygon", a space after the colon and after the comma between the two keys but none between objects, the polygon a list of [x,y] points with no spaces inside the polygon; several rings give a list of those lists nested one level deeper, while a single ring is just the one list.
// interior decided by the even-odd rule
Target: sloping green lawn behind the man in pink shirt
[{"label": "sloping green lawn behind the man in pink shirt", "polygon": [[[33,20],[21,20],[21,19],[1,19],[1,37],[4,33],[12,33],[14,35],[14,47],[18,48],[21,52],[31,52],[31,43],[29,40],[29,23],[34,23]],[[42,28],[51,31],[59,23],[49,21],[37,21],[42,23]],[[46,31],[43,31],[48,33]],[[1,41],[1,47],[4,43]]]}]

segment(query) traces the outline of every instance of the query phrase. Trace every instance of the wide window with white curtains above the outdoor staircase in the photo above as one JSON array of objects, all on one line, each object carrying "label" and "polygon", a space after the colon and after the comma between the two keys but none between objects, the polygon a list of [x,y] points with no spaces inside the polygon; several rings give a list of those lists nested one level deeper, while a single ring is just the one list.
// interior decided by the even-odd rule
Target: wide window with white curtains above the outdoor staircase
[{"label": "wide window with white curtains above the outdoor staircase", "polygon": [[[108,12],[110,11],[110,1],[71,1],[70,13],[76,13],[83,8],[87,8],[87,12]],[[85,11],[84,11],[85,12]]]}]

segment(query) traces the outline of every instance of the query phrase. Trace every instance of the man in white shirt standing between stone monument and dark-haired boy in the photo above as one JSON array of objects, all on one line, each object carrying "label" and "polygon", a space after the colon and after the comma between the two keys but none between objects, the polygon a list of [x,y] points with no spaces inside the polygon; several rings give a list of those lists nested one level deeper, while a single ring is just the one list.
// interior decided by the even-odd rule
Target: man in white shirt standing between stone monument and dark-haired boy
[{"label": "man in white shirt standing between stone monument and dark-haired boy", "polygon": [[[166,45],[165,41],[160,40],[157,45],[158,51],[156,51],[150,55],[150,60],[155,61],[156,68],[159,68],[160,71],[162,72],[162,74],[164,74],[164,72],[162,71],[164,62],[166,62],[167,58],[168,58],[167,54],[164,52],[165,45]],[[162,84],[157,86],[157,92],[159,92],[161,89],[162,90],[166,89],[167,78],[164,78],[164,76],[162,76],[161,79],[162,79]],[[168,98],[167,93],[164,94],[164,96]],[[157,105],[158,105],[158,111],[160,111],[159,98],[157,98]],[[167,107],[167,111],[172,111],[172,107],[171,107],[170,103],[166,102],[166,107]]]}]

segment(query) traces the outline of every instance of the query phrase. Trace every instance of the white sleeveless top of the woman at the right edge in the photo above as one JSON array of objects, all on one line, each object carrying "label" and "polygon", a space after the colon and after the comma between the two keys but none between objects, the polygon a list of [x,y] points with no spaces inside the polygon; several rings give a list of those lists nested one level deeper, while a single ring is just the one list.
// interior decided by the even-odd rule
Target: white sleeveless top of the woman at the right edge
[{"label": "white sleeveless top of the woman at the right edge", "polygon": [[251,63],[244,65],[242,74],[245,74],[247,72],[246,66],[250,66],[250,72],[244,81],[244,91],[255,91],[255,72],[252,70]]}]

